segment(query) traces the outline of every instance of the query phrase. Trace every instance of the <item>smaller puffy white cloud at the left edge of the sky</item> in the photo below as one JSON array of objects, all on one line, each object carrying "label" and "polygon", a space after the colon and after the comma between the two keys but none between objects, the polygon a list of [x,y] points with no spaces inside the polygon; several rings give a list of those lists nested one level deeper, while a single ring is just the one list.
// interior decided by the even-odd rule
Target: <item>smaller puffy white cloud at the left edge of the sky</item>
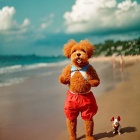
[{"label": "smaller puffy white cloud at the left edge of the sky", "polygon": [[27,31],[30,24],[28,18],[25,18],[22,24],[18,24],[13,18],[16,13],[14,7],[5,6],[0,9],[0,33],[23,33]]}]

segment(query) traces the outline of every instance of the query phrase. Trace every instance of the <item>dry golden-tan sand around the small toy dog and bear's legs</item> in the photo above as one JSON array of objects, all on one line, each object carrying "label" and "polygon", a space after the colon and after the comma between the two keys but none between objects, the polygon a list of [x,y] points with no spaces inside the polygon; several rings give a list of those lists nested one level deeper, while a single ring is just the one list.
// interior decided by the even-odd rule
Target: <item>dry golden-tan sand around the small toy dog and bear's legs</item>
[{"label": "dry golden-tan sand around the small toy dog and bear's legs", "polygon": [[[128,59],[127,59],[128,60]],[[102,60],[101,60],[102,61]],[[110,59],[109,59],[110,61]],[[117,84],[114,90],[97,97],[98,113],[94,117],[94,136],[103,140],[140,140],[140,62],[137,59],[126,61],[127,81]],[[112,134],[112,116],[121,117],[121,135]],[[78,140],[85,140],[84,122],[78,118]],[[57,140],[67,140],[64,130]]]}]

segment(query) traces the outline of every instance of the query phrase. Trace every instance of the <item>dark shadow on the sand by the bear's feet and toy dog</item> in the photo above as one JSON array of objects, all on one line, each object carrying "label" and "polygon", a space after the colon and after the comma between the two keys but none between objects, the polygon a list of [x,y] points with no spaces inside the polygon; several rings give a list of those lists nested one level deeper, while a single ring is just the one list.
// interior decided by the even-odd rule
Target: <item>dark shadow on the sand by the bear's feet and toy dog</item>
[{"label": "dark shadow on the sand by the bear's feet and toy dog", "polygon": [[[136,127],[124,127],[124,128],[121,128],[121,134],[135,132],[136,130],[137,130]],[[103,133],[94,135],[96,140],[102,139],[105,137],[110,138],[110,137],[114,137],[114,136],[115,136],[115,134],[113,134],[113,131],[103,132]],[[85,135],[80,136],[77,140],[81,140],[83,138],[85,138]]]}]

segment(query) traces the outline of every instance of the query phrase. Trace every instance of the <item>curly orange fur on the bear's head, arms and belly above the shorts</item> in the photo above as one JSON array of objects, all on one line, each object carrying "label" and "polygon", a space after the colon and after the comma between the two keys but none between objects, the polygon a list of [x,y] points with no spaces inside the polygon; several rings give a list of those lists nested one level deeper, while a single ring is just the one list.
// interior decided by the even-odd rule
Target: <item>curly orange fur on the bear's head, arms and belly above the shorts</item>
[{"label": "curly orange fur on the bear's head, arms and belly above the shorts", "polygon": [[[80,43],[71,40],[64,46],[65,56],[71,58],[72,65],[75,65],[76,67],[87,66],[89,64],[88,59],[92,56],[93,51],[94,46],[88,40],[80,41]],[[80,54],[81,63],[77,62],[77,59],[79,58],[77,54]],[[91,87],[98,86],[100,83],[100,79],[92,66],[89,66],[86,72],[88,81],[79,71],[71,77],[70,70],[71,64],[63,69],[59,81],[62,84],[68,84],[70,91],[74,93],[84,94],[90,91]]]}]

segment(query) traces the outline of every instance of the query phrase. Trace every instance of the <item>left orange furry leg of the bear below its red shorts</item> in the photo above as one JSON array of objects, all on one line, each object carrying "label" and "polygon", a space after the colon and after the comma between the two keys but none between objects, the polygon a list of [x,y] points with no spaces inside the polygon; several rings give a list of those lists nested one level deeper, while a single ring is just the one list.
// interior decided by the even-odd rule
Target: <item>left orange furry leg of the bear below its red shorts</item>
[{"label": "left orange furry leg of the bear below its red shorts", "polygon": [[70,135],[69,140],[76,140],[76,126],[77,126],[77,119],[75,120],[67,119],[67,127]]}]

